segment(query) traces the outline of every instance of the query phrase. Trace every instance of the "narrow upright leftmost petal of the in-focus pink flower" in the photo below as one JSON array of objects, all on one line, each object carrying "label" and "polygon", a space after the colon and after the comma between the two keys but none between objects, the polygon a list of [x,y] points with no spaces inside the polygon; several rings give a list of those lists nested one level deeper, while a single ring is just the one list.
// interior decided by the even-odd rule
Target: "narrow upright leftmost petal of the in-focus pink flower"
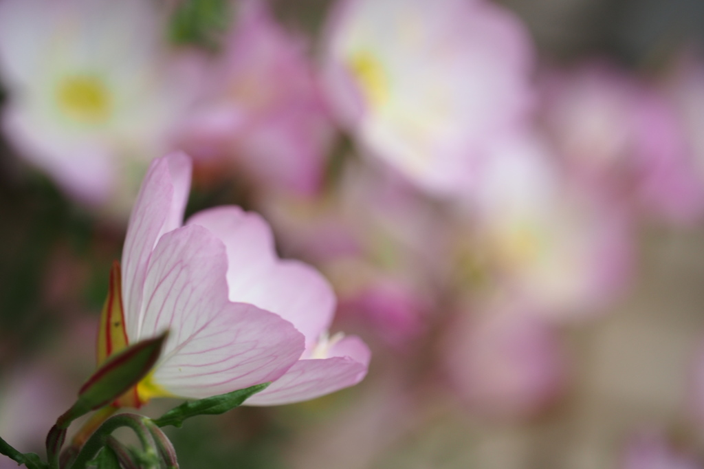
[{"label": "narrow upright leftmost petal of the in-focus pink flower", "polygon": [[182,153],[170,154],[151,162],[139,189],[122,251],[122,295],[130,342],[139,336],[142,291],[151,251],[165,230],[180,225],[190,178],[189,158]]}]

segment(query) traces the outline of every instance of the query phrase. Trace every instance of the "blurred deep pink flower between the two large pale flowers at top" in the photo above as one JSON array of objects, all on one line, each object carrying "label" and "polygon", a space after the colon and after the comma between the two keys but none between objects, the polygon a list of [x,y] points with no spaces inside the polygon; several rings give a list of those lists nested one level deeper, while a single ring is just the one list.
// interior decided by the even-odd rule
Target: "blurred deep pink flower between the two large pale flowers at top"
[{"label": "blurred deep pink flower between the two large pale flowers at top", "polygon": [[332,125],[303,37],[279,26],[263,2],[245,1],[211,72],[210,91],[183,125],[184,148],[270,190],[315,194]]}]

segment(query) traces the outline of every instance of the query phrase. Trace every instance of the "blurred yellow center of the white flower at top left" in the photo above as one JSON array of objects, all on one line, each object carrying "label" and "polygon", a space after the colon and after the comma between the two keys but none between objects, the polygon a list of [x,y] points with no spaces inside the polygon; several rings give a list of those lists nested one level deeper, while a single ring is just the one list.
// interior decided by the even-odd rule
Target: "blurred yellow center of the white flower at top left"
[{"label": "blurred yellow center of the white flower at top left", "polygon": [[112,99],[105,82],[90,75],[62,80],[56,88],[59,110],[80,124],[104,123],[111,114]]}]

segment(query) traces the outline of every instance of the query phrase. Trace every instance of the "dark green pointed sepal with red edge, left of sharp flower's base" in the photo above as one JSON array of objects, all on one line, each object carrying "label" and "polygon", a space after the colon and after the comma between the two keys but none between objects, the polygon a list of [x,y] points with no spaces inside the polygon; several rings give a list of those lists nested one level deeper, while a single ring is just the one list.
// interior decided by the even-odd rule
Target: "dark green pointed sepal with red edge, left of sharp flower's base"
[{"label": "dark green pointed sepal with red edge, left of sharp flower's base", "polygon": [[149,374],[161,356],[161,349],[168,337],[168,331],[153,339],[146,339],[108,358],[98,370],[83,384],[78,392],[78,400],[73,407],[56,421],[60,428],[66,428],[76,418],[111,404],[128,389]]}]

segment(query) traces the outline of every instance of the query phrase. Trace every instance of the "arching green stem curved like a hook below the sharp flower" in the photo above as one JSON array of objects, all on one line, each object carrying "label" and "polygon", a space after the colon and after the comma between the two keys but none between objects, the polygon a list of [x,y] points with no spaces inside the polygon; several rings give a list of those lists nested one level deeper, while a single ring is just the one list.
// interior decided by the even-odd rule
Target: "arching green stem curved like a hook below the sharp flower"
[{"label": "arching green stem curved like a hook below the sharp flower", "polygon": [[144,449],[144,461],[140,467],[144,469],[158,468],[158,449],[151,436],[151,432],[144,425],[146,418],[133,413],[120,413],[114,415],[101,425],[98,430],[91,435],[81,451],[76,456],[75,461],[70,466],[71,469],[85,469],[87,464],[95,458],[96,454],[108,443],[108,437],[112,432],[120,427],[130,427]]}]

